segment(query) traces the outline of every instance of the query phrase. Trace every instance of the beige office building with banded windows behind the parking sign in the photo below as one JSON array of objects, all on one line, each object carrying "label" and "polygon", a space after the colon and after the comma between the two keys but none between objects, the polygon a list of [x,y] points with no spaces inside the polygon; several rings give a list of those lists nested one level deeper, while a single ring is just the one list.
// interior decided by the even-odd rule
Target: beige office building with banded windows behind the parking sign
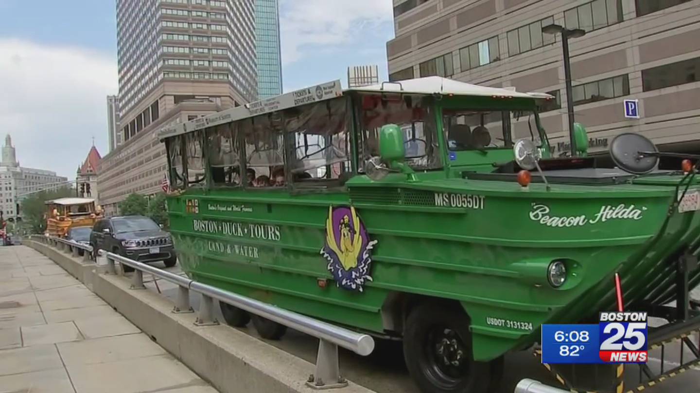
[{"label": "beige office building with banded windows behind the parking sign", "polygon": [[[622,132],[700,150],[700,0],[394,0],[390,80],[445,76],[556,97],[542,108],[555,154],[570,149],[559,24],[570,38],[575,120],[589,151]],[[638,100],[626,116],[624,100]],[[638,115],[640,118],[633,118]],[[517,131],[517,130],[516,130]],[[514,135],[524,137],[528,134]]]}]

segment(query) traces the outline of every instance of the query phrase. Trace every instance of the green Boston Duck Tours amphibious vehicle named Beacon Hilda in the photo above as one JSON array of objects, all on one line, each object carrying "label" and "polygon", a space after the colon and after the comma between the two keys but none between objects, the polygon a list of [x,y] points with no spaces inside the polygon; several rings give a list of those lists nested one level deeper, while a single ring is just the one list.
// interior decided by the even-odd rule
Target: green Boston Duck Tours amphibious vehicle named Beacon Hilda
[{"label": "green Boston Duck Tours amphibious vehicle named Beacon Hilda", "polygon": [[[541,324],[615,310],[616,274],[627,308],[682,301],[664,334],[697,327],[700,270],[678,273],[700,246],[695,168],[657,170],[653,145],[622,148],[645,143],[633,134],[611,144],[619,168],[596,168],[580,125],[577,155],[552,158],[549,99],[439,77],[335,81],[162,129],[182,268],[402,338],[423,392],[491,391]],[[284,334],[221,306],[230,324]]]}]

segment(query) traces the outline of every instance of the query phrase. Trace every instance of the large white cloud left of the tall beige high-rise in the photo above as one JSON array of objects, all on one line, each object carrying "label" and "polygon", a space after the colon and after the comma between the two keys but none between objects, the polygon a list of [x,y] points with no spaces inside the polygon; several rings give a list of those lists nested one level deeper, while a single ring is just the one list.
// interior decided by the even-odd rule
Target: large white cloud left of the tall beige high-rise
[{"label": "large white cloud left of the tall beige high-rise", "polygon": [[0,141],[11,134],[22,166],[74,178],[92,145],[107,149],[113,58],[83,48],[0,38]]}]

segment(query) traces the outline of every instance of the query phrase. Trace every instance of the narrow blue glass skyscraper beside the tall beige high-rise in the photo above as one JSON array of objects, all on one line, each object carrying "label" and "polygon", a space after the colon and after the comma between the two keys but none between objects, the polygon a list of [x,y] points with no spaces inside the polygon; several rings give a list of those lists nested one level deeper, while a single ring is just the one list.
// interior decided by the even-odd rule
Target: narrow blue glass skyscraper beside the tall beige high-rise
[{"label": "narrow blue glass skyscraper beside the tall beige high-rise", "polygon": [[258,52],[258,97],[282,94],[277,0],[255,0],[255,50]]}]

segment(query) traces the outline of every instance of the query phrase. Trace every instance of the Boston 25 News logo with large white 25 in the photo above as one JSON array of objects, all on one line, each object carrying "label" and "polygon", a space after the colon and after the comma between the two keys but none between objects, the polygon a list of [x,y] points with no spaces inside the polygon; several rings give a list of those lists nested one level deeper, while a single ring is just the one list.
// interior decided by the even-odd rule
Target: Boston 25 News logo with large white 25
[{"label": "Boston 25 News logo with large white 25", "polygon": [[600,315],[598,355],[606,363],[647,362],[647,313]]}]

